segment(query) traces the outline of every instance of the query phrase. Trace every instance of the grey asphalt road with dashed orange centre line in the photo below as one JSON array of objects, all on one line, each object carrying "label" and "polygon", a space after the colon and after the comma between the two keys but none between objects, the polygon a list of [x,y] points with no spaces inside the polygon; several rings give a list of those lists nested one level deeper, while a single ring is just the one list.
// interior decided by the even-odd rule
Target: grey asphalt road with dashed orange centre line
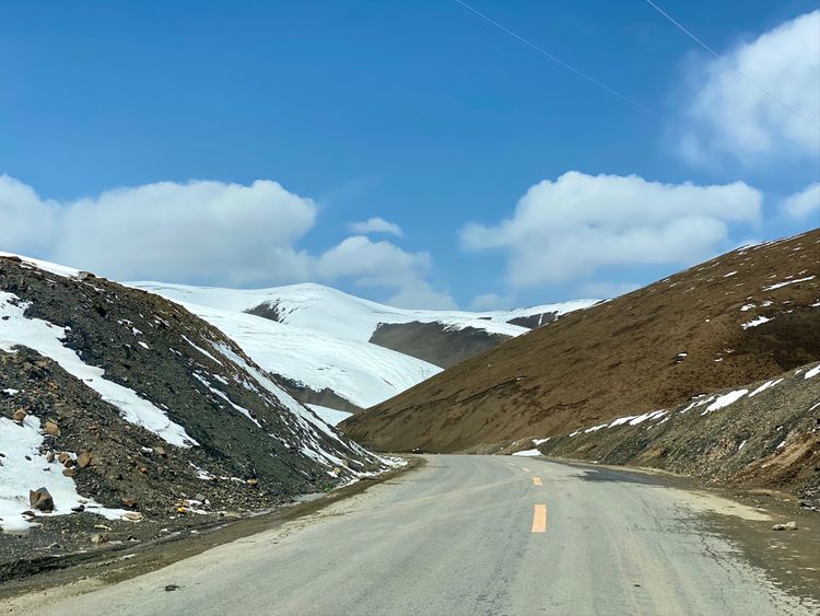
[{"label": "grey asphalt road with dashed orange centre line", "polygon": [[[427,465],[37,614],[804,614],[690,496],[507,456]],[[166,590],[166,586],[177,586]],[[50,603],[49,603],[50,602]]]}]

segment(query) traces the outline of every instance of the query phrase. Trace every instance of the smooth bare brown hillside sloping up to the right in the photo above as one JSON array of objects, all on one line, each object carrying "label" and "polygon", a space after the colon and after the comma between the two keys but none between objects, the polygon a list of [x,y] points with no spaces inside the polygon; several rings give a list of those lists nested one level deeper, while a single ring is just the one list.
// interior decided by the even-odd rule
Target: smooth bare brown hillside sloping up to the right
[{"label": "smooth bare brown hillside sloping up to the right", "polygon": [[[485,451],[774,376],[820,360],[818,275],[820,230],[734,251],[508,340],[341,428],[382,450]],[[771,321],[742,327],[759,317]]]}]

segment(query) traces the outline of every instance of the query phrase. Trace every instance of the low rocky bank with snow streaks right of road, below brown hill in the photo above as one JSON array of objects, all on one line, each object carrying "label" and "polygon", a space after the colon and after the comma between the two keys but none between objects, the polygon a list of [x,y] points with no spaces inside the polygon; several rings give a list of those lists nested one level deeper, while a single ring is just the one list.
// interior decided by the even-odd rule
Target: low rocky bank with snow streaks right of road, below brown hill
[{"label": "low rocky bank with snow streaks right of road, below brown hill", "polygon": [[503,451],[787,490],[820,509],[820,364]]}]

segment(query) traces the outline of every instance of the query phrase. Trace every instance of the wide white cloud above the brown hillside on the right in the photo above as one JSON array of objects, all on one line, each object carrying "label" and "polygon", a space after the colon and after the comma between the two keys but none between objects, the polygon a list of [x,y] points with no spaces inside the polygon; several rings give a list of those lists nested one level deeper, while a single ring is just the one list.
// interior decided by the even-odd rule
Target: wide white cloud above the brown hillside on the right
[{"label": "wide white cloud above the brown hillside on the right", "polygon": [[532,186],[511,218],[465,226],[461,244],[506,253],[514,288],[589,276],[606,266],[691,264],[722,247],[727,223],[757,221],[761,200],[742,182],[696,186],[567,172]]}]

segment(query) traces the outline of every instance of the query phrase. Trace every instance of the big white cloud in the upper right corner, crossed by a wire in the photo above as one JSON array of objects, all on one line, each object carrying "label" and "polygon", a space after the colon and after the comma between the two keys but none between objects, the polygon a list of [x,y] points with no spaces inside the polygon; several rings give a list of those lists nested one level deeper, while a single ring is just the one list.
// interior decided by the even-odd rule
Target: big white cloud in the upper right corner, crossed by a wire
[{"label": "big white cloud in the upper right corner, crossed by a wire", "polygon": [[691,161],[820,154],[820,11],[711,60],[694,81],[681,136]]}]

